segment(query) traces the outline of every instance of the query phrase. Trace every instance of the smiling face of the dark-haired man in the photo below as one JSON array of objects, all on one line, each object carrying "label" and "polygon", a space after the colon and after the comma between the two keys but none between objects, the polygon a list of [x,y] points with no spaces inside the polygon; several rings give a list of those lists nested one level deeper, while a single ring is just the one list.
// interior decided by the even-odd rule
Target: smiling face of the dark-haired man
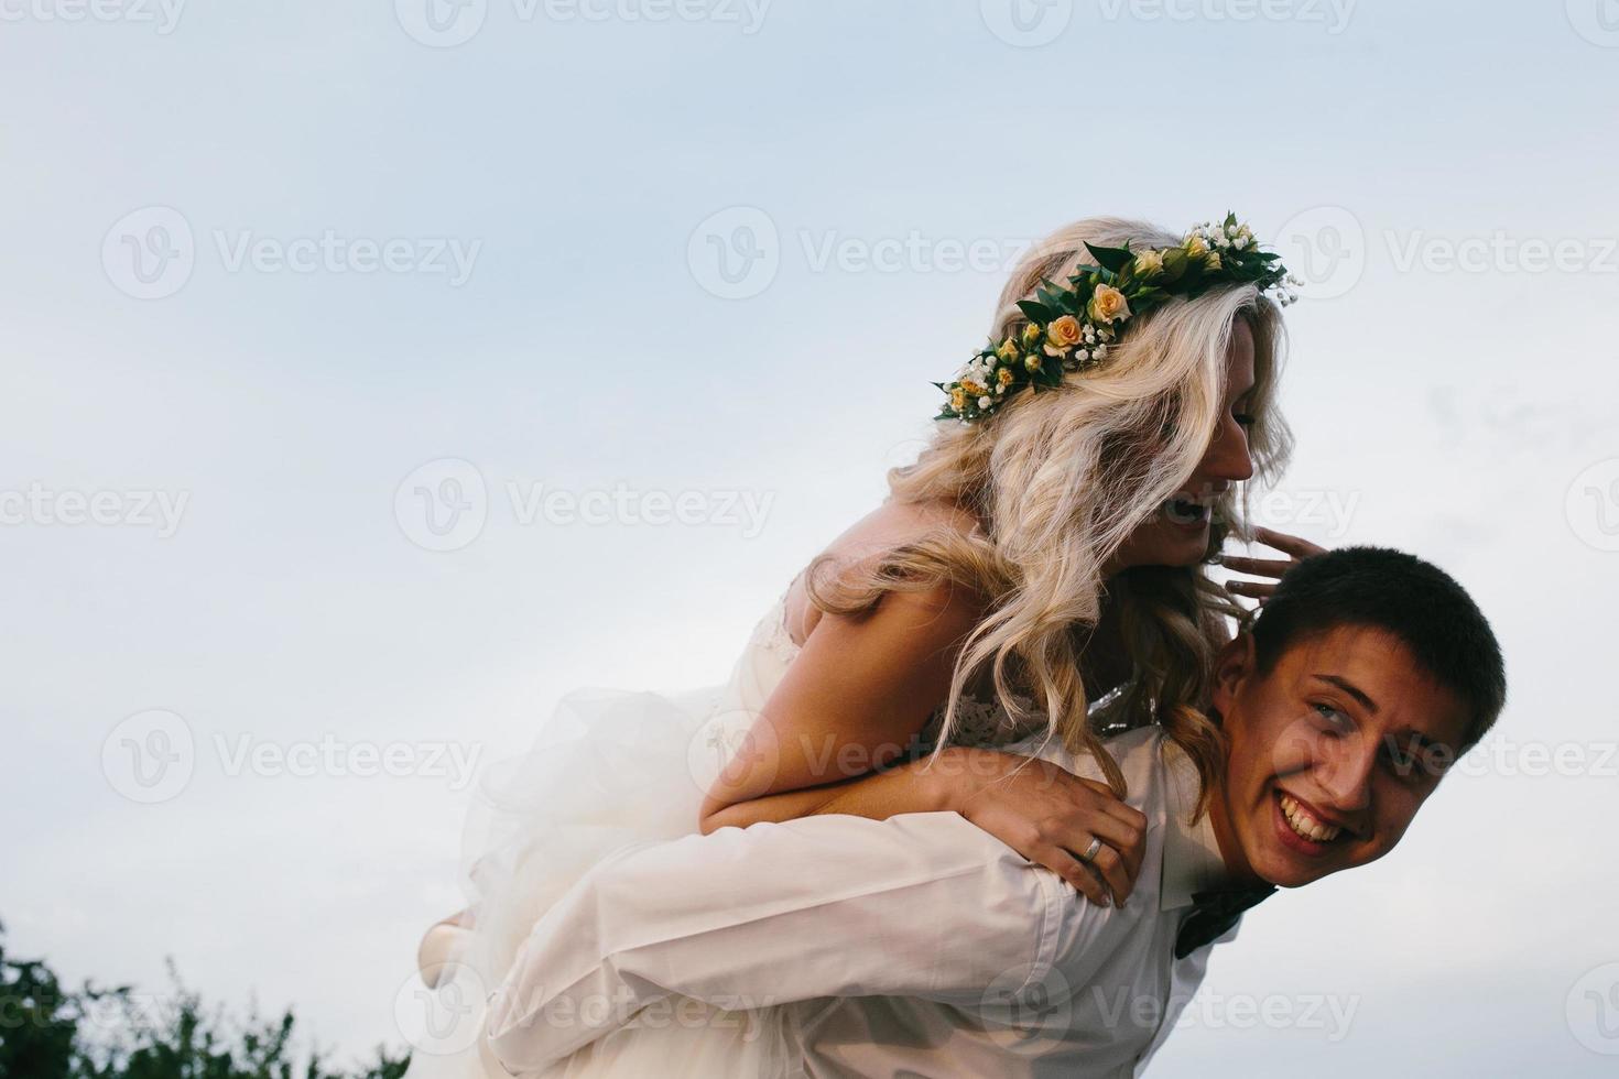
[{"label": "smiling face of the dark-haired man", "polygon": [[1216,666],[1230,739],[1216,807],[1227,861],[1295,888],[1387,854],[1455,760],[1462,700],[1383,629],[1298,641],[1266,675],[1253,658],[1243,634]]}]

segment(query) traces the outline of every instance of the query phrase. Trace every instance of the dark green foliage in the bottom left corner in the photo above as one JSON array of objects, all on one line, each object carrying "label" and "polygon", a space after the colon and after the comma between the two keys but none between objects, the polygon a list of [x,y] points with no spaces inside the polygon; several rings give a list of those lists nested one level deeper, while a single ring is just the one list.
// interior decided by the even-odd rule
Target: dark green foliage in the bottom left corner
[{"label": "dark green foliage in the bottom left corner", "polygon": [[293,1013],[233,1022],[202,1006],[173,964],[173,988],[63,990],[40,959],[18,959],[0,927],[0,1079],[400,1079],[408,1055],[379,1048],[358,1071],[301,1051]]}]

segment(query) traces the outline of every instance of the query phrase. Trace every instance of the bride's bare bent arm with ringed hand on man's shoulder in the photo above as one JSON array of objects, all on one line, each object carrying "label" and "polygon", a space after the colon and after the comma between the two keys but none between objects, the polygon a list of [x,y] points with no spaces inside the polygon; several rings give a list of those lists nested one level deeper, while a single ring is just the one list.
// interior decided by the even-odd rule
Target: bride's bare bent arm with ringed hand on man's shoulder
[{"label": "bride's bare bent arm with ringed hand on man's shoulder", "polygon": [[955,657],[983,616],[967,589],[890,592],[861,616],[822,615],[703,804],[703,831],[814,814],[884,820],[955,810],[1106,904],[1077,857],[1091,838],[1112,898],[1130,893],[1145,817],[1101,783],[989,749],[947,749],[890,767],[949,694]]}]

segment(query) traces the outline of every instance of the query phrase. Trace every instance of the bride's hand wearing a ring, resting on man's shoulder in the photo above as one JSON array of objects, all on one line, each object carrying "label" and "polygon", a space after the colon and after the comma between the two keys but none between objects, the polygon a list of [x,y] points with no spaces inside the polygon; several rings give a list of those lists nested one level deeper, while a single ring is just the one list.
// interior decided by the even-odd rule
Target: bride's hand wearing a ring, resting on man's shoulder
[{"label": "bride's hand wearing a ring, resting on man's shoulder", "polygon": [[[1114,904],[1124,904],[1141,872],[1146,817],[1140,810],[1119,801],[1106,783],[1049,760],[991,749],[965,752],[973,754],[976,772],[991,762],[999,775],[970,785],[954,806],[957,812],[1067,880],[1096,906],[1109,906],[1109,893]],[[1101,840],[1101,848],[1088,869],[1081,857],[1093,838]]]}]

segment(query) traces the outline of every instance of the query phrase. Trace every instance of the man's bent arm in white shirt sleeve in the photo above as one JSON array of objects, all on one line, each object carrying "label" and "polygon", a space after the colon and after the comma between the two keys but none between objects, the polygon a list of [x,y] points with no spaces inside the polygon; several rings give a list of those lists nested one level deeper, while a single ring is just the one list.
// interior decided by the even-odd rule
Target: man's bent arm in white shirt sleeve
[{"label": "man's bent arm in white shirt sleeve", "polygon": [[672,995],[725,1009],[873,995],[976,1008],[991,985],[1046,975],[1077,903],[957,814],[631,848],[536,924],[491,1005],[489,1045],[513,1073],[538,1071]]}]

